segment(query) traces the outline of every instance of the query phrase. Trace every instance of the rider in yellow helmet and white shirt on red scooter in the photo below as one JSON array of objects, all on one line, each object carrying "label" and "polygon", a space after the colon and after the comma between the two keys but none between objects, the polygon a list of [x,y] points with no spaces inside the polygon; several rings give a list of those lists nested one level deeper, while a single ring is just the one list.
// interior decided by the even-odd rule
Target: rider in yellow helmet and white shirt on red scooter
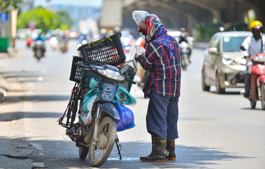
[{"label": "rider in yellow helmet and white shirt on red scooter", "polygon": [[254,56],[257,53],[264,53],[264,44],[265,37],[263,36],[263,25],[259,21],[254,21],[250,24],[250,29],[253,36],[247,37],[242,46],[246,49],[246,51],[241,51],[243,53],[244,58],[247,60],[247,75],[245,77],[245,94],[244,97],[248,98],[249,89],[250,89],[250,81],[251,81],[251,67],[252,61],[249,59],[250,56]]}]

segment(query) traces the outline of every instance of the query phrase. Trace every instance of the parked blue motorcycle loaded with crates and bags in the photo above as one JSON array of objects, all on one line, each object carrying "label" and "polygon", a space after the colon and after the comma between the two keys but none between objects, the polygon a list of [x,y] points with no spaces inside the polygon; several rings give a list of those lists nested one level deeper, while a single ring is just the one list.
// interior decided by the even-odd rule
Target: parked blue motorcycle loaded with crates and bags
[{"label": "parked blue motorcycle loaded with crates and bags", "polygon": [[[66,129],[66,134],[72,141],[79,147],[79,157],[85,159],[89,155],[89,163],[93,167],[100,167],[108,159],[114,143],[116,142],[118,152],[120,149],[118,145],[117,124],[115,119],[120,119],[117,109],[114,107],[114,96],[118,90],[118,85],[115,82],[130,82],[136,84],[133,80],[128,79],[123,75],[129,69],[129,66],[123,67],[120,71],[117,67],[111,65],[86,66],[80,63],[75,63],[76,66],[81,67],[83,70],[93,72],[100,81],[97,82],[97,90],[99,96],[95,99],[91,115],[92,122],[85,125],[82,115],[82,102],[80,97],[84,89],[78,83],[72,90],[71,100],[69,102],[67,111],[67,122],[62,123],[59,119],[59,124]],[[127,70],[126,70],[127,69]],[[91,89],[94,90],[94,89]],[[79,121],[74,123],[75,115],[78,109],[79,102]],[[123,101],[126,99],[123,98]],[[66,112],[66,111],[65,111]],[[120,155],[121,159],[121,155]]]}]

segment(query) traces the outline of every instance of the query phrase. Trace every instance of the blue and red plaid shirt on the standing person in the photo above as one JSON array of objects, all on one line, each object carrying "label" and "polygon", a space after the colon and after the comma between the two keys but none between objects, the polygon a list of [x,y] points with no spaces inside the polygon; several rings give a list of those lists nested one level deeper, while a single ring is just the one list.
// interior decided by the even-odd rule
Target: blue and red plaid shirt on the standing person
[{"label": "blue and red plaid shirt on the standing person", "polygon": [[148,97],[151,86],[158,94],[168,97],[180,97],[181,62],[180,48],[176,39],[170,36],[175,47],[174,56],[170,55],[166,46],[150,42],[147,45],[145,56],[140,59],[144,70],[149,70],[145,87],[144,98]]}]

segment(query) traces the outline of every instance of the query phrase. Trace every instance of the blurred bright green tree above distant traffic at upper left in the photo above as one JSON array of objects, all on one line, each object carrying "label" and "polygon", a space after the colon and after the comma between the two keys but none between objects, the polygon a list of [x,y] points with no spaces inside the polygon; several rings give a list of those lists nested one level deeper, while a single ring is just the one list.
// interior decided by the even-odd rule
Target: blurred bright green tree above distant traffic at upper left
[{"label": "blurred bright green tree above distant traffic at upper left", "polygon": [[49,29],[60,27],[60,16],[44,8],[33,8],[20,14],[17,18],[17,28],[27,28],[30,22],[35,22],[36,28],[47,32]]}]

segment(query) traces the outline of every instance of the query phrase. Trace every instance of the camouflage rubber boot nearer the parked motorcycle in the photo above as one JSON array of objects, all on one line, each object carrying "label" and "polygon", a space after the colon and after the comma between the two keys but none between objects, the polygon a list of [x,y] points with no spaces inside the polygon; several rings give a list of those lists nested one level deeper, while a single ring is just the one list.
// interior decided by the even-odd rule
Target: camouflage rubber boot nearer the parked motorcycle
[{"label": "camouflage rubber boot nearer the parked motorcycle", "polygon": [[165,162],[166,161],[166,140],[155,133],[152,136],[152,152],[149,156],[140,157],[143,162]]}]

